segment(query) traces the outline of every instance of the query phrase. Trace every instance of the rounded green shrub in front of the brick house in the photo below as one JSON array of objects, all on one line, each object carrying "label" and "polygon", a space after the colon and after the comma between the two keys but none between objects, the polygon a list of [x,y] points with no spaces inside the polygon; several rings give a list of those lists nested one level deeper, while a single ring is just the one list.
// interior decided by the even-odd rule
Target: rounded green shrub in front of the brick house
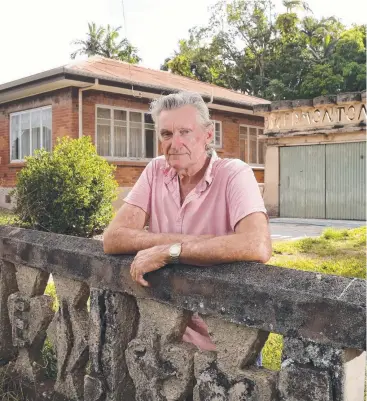
[{"label": "rounded green shrub in front of the brick house", "polygon": [[42,231],[92,237],[110,222],[115,167],[97,155],[90,137],[63,138],[52,153],[26,158],[13,191],[22,224]]}]

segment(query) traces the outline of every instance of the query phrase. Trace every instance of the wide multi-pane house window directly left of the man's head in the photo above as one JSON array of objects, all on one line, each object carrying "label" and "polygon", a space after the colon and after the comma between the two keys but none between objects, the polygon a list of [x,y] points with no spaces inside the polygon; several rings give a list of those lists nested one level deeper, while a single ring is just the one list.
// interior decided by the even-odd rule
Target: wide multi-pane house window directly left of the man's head
[{"label": "wide multi-pane house window directly left of the man's head", "polygon": [[156,155],[154,123],[149,113],[97,106],[96,138],[100,156],[151,159]]}]

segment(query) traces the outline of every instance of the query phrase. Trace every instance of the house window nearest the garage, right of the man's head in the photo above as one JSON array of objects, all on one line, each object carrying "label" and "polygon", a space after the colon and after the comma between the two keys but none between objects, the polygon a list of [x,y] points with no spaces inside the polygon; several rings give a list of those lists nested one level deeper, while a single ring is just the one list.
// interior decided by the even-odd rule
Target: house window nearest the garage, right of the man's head
[{"label": "house window nearest the garage, right of the man's head", "polygon": [[265,164],[266,142],[259,138],[263,135],[262,128],[241,125],[240,126],[240,159],[250,165]]}]

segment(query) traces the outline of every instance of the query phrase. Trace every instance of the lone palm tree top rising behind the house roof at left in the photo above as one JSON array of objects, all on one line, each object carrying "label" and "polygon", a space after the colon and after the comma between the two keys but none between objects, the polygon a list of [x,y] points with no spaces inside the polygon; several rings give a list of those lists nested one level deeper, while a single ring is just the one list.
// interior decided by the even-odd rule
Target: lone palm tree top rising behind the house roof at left
[{"label": "lone palm tree top rising behind the house roof at left", "polygon": [[78,55],[86,54],[88,57],[97,55],[114,60],[127,61],[131,64],[137,64],[141,61],[137,48],[126,38],[118,42],[121,27],[113,28],[110,25],[107,25],[106,28],[103,26],[97,27],[92,22],[88,23],[88,28],[89,32],[86,40],[72,42],[73,45],[81,46],[70,55],[72,59],[75,59]]}]

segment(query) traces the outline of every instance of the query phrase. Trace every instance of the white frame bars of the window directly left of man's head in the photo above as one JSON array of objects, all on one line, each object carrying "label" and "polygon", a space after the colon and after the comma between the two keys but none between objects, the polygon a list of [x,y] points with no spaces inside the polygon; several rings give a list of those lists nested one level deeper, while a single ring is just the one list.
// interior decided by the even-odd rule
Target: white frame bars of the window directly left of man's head
[{"label": "white frame bars of the window directly left of man's head", "polygon": [[[95,127],[94,127],[94,132],[95,132],[95,139],[94,139],[94,144],[96,146],[97,149],[97,143],[98,143],[98,132],[97,132],[97,126],[98,126],[98,117],[97,117],[97,110],[98,108],[103,108],[103,109],[109,109],[109,110],[119,110],[119,111],[125,111],[126,117],[128,116],[129,112],[133,112],[133,113],[141,113],[142,115],[142,149],[145,152],[145,132],[144,132],[144,126],[145,126],[145,122],[144,122],[144,114],[150,114],[148,110],[139,110],[139,109],[130,109],[130,108],[124,108],[124,107],[117,107],[117,106],[110,106],[107,104],[96,104],[95,107]],[[126,130],[127,130],[127,153],[129,154],[129,148],[130,148],[130,119],[127,117],[126,120]],[[114,133],[114,119],[112,118],[112,113],[111,113],[111,126],[110,126],[110,135],[112,138],[112,135]],[[154,136],[155,136],[155,156],[158,156],[158,136],[157,136],[157,132],[154,129]],[[114,141],[111,141],[111,153],[114,154]],[[98,152],[98,149],[97,149]],[[152,160],[152,158],[149,157],[119,157],[119,156],[101,156],[104,159],[108,160],[108,161],[141,161],[141,162],[150,162]],[[153,158],[154,158],[153,157]]]}]

